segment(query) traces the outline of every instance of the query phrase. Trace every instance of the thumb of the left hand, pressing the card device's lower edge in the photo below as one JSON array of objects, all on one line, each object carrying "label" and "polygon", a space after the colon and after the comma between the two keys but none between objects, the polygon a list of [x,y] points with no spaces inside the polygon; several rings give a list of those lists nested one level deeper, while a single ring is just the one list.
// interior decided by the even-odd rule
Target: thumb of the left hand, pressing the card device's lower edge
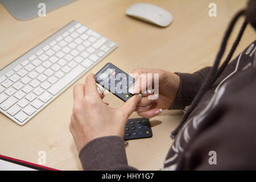
[{"label": "thumb of the left hand, pressing the card device's lower edge", "polygon": [[118,110],[123,113],[127,118],[136,109],[136,105],[141,101],[141,94],[135,94],[128,101],[125,102]]}]

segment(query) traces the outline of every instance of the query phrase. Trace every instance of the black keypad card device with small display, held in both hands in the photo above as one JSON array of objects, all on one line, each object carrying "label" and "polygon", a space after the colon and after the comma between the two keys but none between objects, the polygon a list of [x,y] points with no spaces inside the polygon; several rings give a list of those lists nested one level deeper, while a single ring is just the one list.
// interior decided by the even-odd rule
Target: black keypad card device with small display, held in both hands
[{"label": "black keypad card device with small display, held in both hands", "polygon": [[134,94],[129,93],[129,88],[136,81],[121,69],[117,68],[112,63],[107,63],[94,76],[97,84],[101,85],[109,92],[120,98],[122,101],[127,101]]}]

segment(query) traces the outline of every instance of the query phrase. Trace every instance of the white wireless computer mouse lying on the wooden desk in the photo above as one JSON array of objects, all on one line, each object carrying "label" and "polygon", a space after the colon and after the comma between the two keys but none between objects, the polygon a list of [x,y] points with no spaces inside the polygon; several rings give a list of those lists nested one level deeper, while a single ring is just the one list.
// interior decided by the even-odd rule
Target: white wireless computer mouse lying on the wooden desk
[{"label": "white wireless computer mouse lying on the wooden desk", "polygon": [[126,10],[126,15],[133,16],[156,24],[160,27],[167,27],[172,22],[172,15],[162,7],[148,3],[137,3]]}]

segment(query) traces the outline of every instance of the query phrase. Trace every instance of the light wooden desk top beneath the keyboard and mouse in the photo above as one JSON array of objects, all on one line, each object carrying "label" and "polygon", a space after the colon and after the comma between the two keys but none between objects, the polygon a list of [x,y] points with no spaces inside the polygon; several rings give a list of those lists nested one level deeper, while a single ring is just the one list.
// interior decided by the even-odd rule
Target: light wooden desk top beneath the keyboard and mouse
[{"label": "light wooden desk top beneath the keyboard and mouse", "polygon": [[[137,67],[194,72],[212,65],[229,20],[246,5],[245,0],[144,1],[164,7],[174,16],[169,27],[160,28],[125,15],[126,9],[137,2],[80,0],[54,10],[44,18],[28,21],[14,19],[0,4],[0,68],[76,19],[119,45],[90,72],[96,73],[107,61],[126,72]],[[208,16],[211,2],[217,4],[216,18]],[[241,23],[242,20],[227,49]],[[255,32],[249,26],[234,55],[254,39]],[[88,74],[76,83],[84,82]],[[18,126],[0,114],[0,154],[38,163],[38,152],[46,151],[46,166],[61,170],[82,169],[68,129],[72,89],[73,85],[24,126]],[[114,107],[122,105],[112,94],[108,94],[105,100]],[[150,139],[129,141],[126,147],[129,164],[144,170],[160,169],[172,144],[170,133],[180,121],[181,114],[182,111],[164,111],[150,119],[154,135]],[[138,115],[133,113],[130,118],[133,117]]]}]

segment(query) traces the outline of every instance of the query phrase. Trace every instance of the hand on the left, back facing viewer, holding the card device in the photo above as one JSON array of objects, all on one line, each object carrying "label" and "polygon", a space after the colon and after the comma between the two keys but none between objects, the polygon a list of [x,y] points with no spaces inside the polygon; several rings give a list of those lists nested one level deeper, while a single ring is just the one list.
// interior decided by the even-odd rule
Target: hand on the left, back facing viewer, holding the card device
[{"label": "hand on the left, back facing viewer, holding the card device", "polygon": [[93,74],[86,77],[85,84],[77,84],[73,89],[74,105],[69,130],[79,152],[95,138],[123,137],[127,118],[141,101],[141,94],[136,94],[123,106],[114,109],[102,101],[103,97],[104,94],[98,93]]}]

